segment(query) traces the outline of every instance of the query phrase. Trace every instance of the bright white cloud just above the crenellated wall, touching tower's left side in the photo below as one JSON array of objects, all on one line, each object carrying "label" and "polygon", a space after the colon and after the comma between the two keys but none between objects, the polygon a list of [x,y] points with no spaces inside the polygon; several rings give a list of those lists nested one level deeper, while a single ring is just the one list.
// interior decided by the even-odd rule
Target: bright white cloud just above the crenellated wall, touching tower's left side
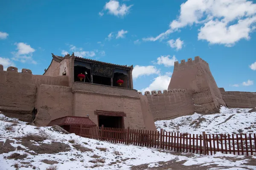
[{"label": "bright white cloud just above the crenellated wall, touching tower's left side", "polygon": [[154,78],[154,81],[147,87],[141,89],[142,94],[145,93],[145,91],[163,91],[167,90],[168,86],[170,84],[171,77],[168,75],[158,76]]}]

